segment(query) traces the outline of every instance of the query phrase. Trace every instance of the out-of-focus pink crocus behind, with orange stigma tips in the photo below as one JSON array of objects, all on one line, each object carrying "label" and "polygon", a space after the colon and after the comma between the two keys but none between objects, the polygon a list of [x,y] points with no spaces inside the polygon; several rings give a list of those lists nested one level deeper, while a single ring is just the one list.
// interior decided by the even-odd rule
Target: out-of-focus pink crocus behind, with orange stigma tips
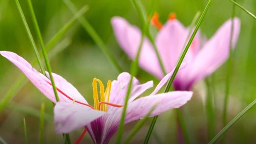
[{"label": "out-of-focus pink crocus behind, with orange stigma tips", "polygon": [[[231,19],[227,20],[206,42],[200,38],[200,31],[197,32],[183,61],[188,63],[188,66],[175,77],[173,83],[175,90],[189,90],[195,82],[213,73],[226,61],[229,56],[231,21]],[[113,17],[111,23],[120,47],[131,59],[135,59],[141,31],[122,17]],[[158,15],[155,14],[152,24],[159,29],[155,43],[165,70],[170,72],[176,66],[183,52],[189,28],[184,27],[174,14],[170,14],[169,20],[163,26],[158,20]],[[237,42],[239,31],[240,20],[234,18],[233,48]],[[144,38],[139,65],[157,78],[163,77],[157,55],[148,38]]]}]

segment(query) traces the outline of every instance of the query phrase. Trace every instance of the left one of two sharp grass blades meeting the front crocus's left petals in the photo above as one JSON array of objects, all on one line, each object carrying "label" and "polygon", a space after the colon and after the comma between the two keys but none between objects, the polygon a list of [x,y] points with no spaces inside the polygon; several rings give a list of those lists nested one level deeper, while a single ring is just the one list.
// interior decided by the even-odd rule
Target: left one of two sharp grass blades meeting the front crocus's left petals
[{"label": "left one of two sharp grass blades meeting the front crocus's left petals", "polygon": [[45,70],[44,70],[44,67],[43,67],[43,63],[42,63],[42,61],[41,61],[41,59],[40,59],[40,55],[39,55],[39,53],[38,53],[37,46],[35,45],[34,39],[33,39],[33,37],[32,37],[32,34],[31,34],[30,30],[29,30],[27,20],[26,20],[26,18],[25,18],[25,16],[24,16],[24,13],[23,13],[22,8],[21,8],[21,6],[20,6],[20,4],[19,4],[19,1],[18,1],[18,0],[15,0],[15,2],[16,2],[17,9],[18,9],[18,11],[19,11],[19,15],[20,15],[20,17],[22,18],[23,24],[24,24],[25,29],[26,29],[26,31],[27,31],[27,34],[28,34],[30,43],[31,43],[31,45],[32,45],[32,47],[33,47],[33,49],[34,49],[35,56],[37,57],[37,61],[38,61],[40,70],[41,70],[42,74],[45,75]]}]

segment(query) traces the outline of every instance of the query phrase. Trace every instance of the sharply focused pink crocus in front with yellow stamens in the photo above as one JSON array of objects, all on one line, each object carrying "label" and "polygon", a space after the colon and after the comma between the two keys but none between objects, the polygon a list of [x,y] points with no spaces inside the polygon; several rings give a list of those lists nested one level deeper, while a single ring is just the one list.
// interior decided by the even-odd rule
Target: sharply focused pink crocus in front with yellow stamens
[{"label": "sharply focused pink crocus in front with yellow stamens", "polygon": [[[0,54],[18,67],[48,99],[56,103],[54,121],[57,133],[68,133],[77,128],[85,127],[85,131],[76,141],[79,142],[86,130],[96,144],[105,144],[117,131],[123,111],[124,99],[130,74],[123,72],[117,80],[108,81],[104,89],[103,83],[94,78],[94,106],[87,103],[84,97],[63,77],[53,73],[60,102],[56,102],[51,81],[35,70],[25,59],[12,52],[0,51]],[[181,68],[185,66],[182,65]],[[190,100],[191,91],[172,91],[156,94],[166,84],[173,71],[162,78],[154,91],[146,97],[138,98],[145,90],[153,87],[153,81],[140,84],[134,77],[128,101],[125,124],[141,119],[156,105],[150,116],[159,115],[167,110],[178,108]],[[48,74],[48,73],[47,73]],[[98,95],[97,83],[99,83]],[[100,99],[99,99],[100,96]]]}]

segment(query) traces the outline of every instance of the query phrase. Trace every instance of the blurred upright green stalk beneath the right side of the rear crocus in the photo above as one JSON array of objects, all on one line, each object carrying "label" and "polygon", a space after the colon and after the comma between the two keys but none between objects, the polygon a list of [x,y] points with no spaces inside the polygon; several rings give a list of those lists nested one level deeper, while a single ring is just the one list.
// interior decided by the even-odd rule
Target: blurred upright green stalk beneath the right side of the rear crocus
[{"label": "blurred upright green stalk beneath the right side of the rear crocus", "polygon": [[205,84],[207,86],[207,97],[206,97],[206,115],[208,120],[208,139],[211,140],[215,135],[215,117],[213,110],[213,97],[211,82],[209,78],[205,78]]}]

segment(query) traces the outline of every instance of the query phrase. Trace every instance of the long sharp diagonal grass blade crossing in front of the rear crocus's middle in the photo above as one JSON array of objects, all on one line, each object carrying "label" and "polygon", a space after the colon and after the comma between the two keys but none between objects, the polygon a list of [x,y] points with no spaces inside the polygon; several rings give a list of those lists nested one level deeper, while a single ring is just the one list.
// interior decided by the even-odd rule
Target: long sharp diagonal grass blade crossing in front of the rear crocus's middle
[{"label": "long sharp diagonal grass blade crossing in front of the rear crocus's middle", "polygon": [[[186,53],[187,53],[187,51],[188,51],[188,48],[189,48],[189,46],[191,45],[193,39],[195,38],[195,35],[196,35],[196,33],[197,33],[197,31],[198,31],[198,29],[199,29],[199,27],[200,27],[200,25],[201,25],[201,23],[202,23],[204,17],[205,17],[205,14],[207,13],[208,9],[210,8],[210,5],[211,5],[212,1],[213,1],[213,0],[209,0],[208,3],[207,3],[207,5],[205,6],[205,9],[203,10],[202,15],[200,16],[200,18],[199,18],[199,20],[198,20],[198,22],[197,22],[196,28],[194,29],[193,33],[191,34],[191,37],[190,37],[190,39],[189,39],[189,41],[188,41],[188,43],[187,43],[187,45],[186,45],[186,47],[185,47],[185,49],[184,49],[184,51],[183,51],[183,53],[182,53],[182,55],[181,55],[179,61],[177,62],[177,65],[176,65],[176,67],[175,67],[175,69],[174,69],[173,75],[172,75],[172,77],[170,78],[170,80],[168,81],[168,84],[167,84],[167,86],[166,86],[165,92],[168,92],[168,91],[169,91],[169,89],[170,89],[170,87],[171,87],[171,85],[172,85],[172,83],[173,83],[173,81],[174,81],[174,78],[175,78],[175,76],[176,76],[176,74],[177,74],[177,72],[178,72],[178,70],[179,70],[179,68],[180,68],[180,66],[181,66],[181,63],[182,63],[182,61],[183,61],[183,59],[184,59],[184,57],[185,57],[185,55],[186,55]],[[155,116],[155,117],[153,118],[153,121],[152,121],[152,123],[151,123],[150,129],[149,129],[148,132],[147,132],[147,136],[146,136],[146,139],[145,139],[145,141],[144,141],[144,144],[147,144],[147,143],[148,143],[148,141],[149,141],[149,139],[150,139],[150,136],[151,136],[151,134],[152,134],[152,130],[153,130],[155,124],[156,124],[157,118],[158,118],[158,116]]]}]

